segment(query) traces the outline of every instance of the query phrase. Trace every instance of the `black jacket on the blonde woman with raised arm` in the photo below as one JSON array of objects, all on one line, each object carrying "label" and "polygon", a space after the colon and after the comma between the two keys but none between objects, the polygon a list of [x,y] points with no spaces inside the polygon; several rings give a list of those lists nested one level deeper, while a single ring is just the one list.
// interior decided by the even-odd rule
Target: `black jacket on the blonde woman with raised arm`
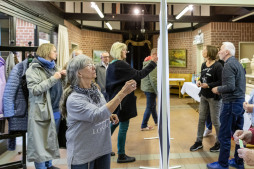
[{"label": "black jacket on the blonde woman with raised arm", "polygon": [[[106,93],[109,100],[122,89],[128,80],[141,80],[146,77],[154,68],[156,63],[151,61],[148,66],[142,70],[136,70],[122,60],[117,60],[109,64],[106,73]],[[137,116],[136,96],[134,92],[127,95],[117,107],[114,114],[118,115],[119,121],[127,121]]]}]

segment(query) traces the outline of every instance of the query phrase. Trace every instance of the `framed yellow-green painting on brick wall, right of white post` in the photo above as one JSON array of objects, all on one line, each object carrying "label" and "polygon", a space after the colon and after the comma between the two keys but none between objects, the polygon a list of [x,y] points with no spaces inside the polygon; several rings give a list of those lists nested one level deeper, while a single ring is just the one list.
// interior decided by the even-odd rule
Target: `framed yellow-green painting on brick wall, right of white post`
[{"label": "framed yellow-green painting on brick wall, right of white post", "polygon": [[186,49],[169,49],[169,67],[187,67]]}]

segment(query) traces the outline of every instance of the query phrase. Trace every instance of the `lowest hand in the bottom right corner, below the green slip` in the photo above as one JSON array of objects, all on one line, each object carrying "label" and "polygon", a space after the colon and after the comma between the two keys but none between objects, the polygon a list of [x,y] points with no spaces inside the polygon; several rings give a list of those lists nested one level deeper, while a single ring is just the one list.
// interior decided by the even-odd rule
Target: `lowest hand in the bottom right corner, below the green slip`
[{"label": "lowest hand in the bottom right corner, below the green slip", "polygon": [[247,165],[254,165],[254,151],[248,148],[240,148],[237,150],[238,156],[243,159]]}]

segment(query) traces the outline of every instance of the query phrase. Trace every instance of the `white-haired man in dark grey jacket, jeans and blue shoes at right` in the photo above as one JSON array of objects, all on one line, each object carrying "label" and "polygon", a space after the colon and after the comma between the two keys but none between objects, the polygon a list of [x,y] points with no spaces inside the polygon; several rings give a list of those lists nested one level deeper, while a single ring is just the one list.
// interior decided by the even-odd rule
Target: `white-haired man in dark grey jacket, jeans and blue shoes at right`
[{"label": "white-haired man in dark grey jacket, jeans and blue shoes at right", "polygon": [[232,166],[243,169],[243,159],[239,158],[235,146],[234,158],[229,160],[231,136],[236,130],[243,128],[243,102],[245,101],[246,79],[242,65],[234,57],[235,46],[231,42],[223,42],[219,57],[225,62],[222,71],[222,85],[212,89],[215,94],[222,95],[222,109],[220,112],[220,155],[217,162],[207,164],[208,169],[227,169]]}]

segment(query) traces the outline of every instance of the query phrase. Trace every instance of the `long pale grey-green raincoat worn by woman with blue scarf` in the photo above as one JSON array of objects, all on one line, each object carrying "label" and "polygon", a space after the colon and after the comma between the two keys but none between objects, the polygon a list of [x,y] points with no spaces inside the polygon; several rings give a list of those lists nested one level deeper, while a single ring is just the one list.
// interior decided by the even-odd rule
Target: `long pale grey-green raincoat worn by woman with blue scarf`
[{"label": "long pale grey-green raincoat worn by woman with blue scarf", "polygon": [[50,88],[58,80],[47,78],[39,63],[31,63],[26,80],[29,89],[27,160],[40,163],[60,158],[50,99]]}]

